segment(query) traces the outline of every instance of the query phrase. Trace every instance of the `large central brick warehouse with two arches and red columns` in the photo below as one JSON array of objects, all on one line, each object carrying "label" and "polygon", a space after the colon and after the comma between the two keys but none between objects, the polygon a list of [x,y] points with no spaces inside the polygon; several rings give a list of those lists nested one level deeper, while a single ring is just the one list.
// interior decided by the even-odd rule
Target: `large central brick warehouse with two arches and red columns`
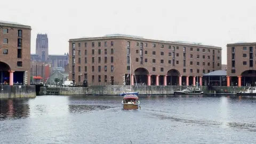
[{"label": "large central brick warehouse with two arches and red columns", "polygon": [[202,85],[203,74],[221,70],[221,47],[137,36],[69,39],[69,53],[69,79],[77,84]]}]

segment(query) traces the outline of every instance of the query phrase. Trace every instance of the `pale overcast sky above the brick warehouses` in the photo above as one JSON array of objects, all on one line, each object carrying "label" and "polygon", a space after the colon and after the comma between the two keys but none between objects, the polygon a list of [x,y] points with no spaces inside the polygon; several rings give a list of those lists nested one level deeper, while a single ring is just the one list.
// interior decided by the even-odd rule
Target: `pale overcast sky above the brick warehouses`
[{"label": "pale overcast sky above the brick warehouses", "polygon": [[68,39],[127,34],[222,47],[256,41],[254,1],[1,0],[0,20],[29,25],[31,53],[37,33],[47,33],[49,53],[68,52]]}]

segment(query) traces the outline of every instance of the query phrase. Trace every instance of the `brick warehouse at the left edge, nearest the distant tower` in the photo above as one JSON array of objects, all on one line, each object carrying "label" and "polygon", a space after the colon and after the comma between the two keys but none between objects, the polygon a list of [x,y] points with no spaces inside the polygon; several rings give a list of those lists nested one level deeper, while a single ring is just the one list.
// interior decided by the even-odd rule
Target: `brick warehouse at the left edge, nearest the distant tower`
[{"label": "brick warehouse at the left edge, nearest the distant tower", "polygon": [[30,83],[31,27],[0,21],[0,83]]}]

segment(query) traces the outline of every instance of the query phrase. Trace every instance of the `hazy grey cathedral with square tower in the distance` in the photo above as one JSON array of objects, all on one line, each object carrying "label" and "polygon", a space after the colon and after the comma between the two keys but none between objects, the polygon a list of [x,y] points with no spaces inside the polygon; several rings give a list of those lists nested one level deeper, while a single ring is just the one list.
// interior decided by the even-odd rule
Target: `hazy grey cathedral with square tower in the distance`
[{"label": "hazy grey cathedral with square tower in the distance", "polygon": [[49,55],[47,34],[37,34],[36,38],[36,54],[31,54],[32,61],[41,61],[51,64],[52,68],[59,68],[68,64],[69,54]]}]

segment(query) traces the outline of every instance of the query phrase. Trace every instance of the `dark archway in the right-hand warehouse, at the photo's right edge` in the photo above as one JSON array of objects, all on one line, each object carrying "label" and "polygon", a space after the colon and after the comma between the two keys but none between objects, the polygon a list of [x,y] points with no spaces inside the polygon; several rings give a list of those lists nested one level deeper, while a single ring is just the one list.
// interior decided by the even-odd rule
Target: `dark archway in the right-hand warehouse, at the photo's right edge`
[{"label": "dark archway in the right-hand warehouse, at the photo's right edge", "polygon": [[256,86],[256,70],[245,70],[241,76],[242,86]]}]

